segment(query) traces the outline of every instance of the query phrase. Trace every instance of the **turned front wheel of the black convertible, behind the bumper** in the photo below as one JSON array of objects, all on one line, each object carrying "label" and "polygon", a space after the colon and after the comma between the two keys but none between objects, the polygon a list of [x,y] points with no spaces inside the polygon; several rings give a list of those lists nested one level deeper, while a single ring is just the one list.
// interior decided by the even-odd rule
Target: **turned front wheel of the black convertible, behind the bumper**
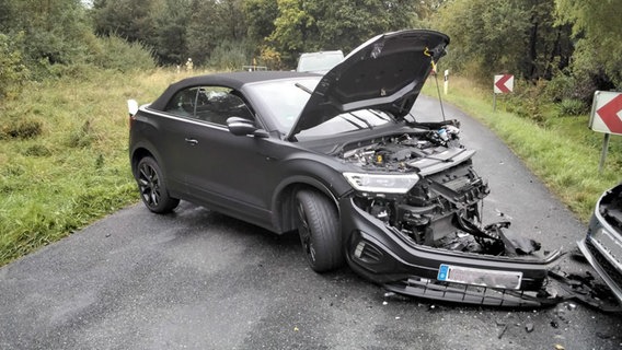
[{"label": "turned front wheel of the black convertible, behind the bumper", "polygon": [[307,261],[316,272],[325,272],[344,264],[339,220],[335,206],[314,190],[296,195],[298,233]]}]

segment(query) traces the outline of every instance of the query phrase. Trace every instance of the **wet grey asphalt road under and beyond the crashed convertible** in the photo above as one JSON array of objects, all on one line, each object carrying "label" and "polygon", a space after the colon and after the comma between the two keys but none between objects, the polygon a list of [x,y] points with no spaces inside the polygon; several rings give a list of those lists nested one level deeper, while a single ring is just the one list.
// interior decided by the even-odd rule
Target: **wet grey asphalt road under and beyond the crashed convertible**
[{"label": "wet grey asphalt road under and beyond the crashed convertible", "polygon": [[[418,116],[439,119],[419,98]],[[573,249],[579,223],[493,133],[462,121],[492,194],[484,221]],[[422,110],[426,110],[425,113]],[[423,118],[422,118],[423,119]],[[563,270],[585,270],[569,258]],[[530,331],[528,331],[528,328]],[[532,330],[531,330],[532,328]],[[296,235],[182,202],[133,206],[0,268],[0,349],[620,349],[622,316],[576,303],[457,306],[385,295],[349,269],[316,275]]]}]

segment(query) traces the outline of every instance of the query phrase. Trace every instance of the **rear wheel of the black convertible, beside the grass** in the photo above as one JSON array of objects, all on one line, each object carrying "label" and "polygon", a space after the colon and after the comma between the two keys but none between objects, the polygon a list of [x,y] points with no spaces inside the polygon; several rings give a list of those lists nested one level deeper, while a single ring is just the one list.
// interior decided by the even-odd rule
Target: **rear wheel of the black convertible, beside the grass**
[{"label": "rear wheel of the black convertible, beside the grass", "polygon": [[164,175],[154,159],[146,156],[138,162],[136,182],[142,202],[152,212],[168,213],[180,203],[169,195]]}]

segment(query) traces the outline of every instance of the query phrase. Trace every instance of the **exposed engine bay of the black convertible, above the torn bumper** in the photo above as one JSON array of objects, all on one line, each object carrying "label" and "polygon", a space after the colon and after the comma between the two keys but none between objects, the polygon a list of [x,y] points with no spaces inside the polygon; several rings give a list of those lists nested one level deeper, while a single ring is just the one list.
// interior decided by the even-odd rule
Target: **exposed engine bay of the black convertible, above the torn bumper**
[{"label": "exposed engine bay of the black convertible, above the torn bumper", "polygon": [[483,224],[489,189],[473,170],[475,152],[460,144],[457,124],[345,147],[342,159],[367,172],[421,177],[407,194],[361,192],[355,203],[415,244],[494,256],[539,250],[539,243],[511,233],[508,221]]}]

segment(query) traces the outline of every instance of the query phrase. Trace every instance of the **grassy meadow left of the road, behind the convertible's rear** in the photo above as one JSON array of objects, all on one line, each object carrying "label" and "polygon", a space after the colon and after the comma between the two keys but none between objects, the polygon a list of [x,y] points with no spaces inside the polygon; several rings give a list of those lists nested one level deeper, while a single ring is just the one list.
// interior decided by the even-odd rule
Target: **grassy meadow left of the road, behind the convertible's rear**
[{"label": "grassy meadow left of the road, behind the convertible's rear", "polygon": [[0,105],[0,266],[137,201],[126,100],[180,78],[78,70]]}]

